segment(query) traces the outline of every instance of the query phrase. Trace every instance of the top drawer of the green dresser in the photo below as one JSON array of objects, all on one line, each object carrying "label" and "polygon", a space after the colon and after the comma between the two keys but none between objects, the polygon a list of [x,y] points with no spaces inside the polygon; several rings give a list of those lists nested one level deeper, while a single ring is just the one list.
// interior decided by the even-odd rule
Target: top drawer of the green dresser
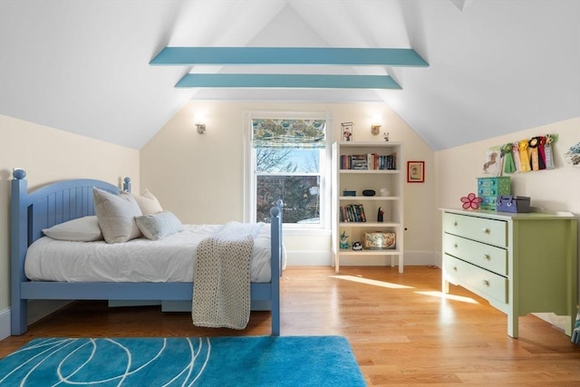
[{"label": "top drawer of the green dresser", "polygon": [[507,222],[497,219],[443,213],[443,232],[507,247]]}]

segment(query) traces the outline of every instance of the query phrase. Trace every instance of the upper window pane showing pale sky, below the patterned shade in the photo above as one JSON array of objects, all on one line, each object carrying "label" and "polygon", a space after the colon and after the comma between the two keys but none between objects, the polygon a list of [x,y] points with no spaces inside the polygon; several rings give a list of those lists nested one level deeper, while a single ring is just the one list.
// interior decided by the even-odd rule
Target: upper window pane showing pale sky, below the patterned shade
[{"label": "upper window pane showing pale sky, below the patterned shade", "polygon": [[320,150],[256,148],[258,173],[318,173],[319,170]]}]

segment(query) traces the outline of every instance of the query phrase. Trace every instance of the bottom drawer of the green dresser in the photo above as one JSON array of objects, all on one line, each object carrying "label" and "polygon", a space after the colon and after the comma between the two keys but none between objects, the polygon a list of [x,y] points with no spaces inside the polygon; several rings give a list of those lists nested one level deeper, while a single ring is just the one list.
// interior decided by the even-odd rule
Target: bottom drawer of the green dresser
[{"label": "bottom drawer of the green dresser", "polygon": [[445,273],[460,280],[462,285],[507,304],[506,277],[498,276],[447,254],[443,256],[443,266]]}]

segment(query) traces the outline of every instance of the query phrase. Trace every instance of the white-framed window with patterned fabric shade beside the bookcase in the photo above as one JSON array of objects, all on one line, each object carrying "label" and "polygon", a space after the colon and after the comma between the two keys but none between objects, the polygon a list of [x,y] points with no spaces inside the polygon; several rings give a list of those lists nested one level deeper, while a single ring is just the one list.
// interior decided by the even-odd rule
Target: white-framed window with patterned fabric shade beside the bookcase
[{"label": "white-framed window with patterned fabric shade beside the bookcase", "polygon": [[327,121],[265,117],[248,120],[249,221],[269,221],[270,208],[281,198],[286,227],[326,227]]}]

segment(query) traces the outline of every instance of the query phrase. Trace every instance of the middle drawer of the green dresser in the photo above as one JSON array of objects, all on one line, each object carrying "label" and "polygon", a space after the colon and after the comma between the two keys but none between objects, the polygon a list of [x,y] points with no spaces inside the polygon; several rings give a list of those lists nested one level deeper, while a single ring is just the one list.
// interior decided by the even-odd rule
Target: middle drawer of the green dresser
[{"label": "middle drawer of the green dresser", "polygon": [[507,276],[507,249],[443,234],[443,252],[501,276]]}]

